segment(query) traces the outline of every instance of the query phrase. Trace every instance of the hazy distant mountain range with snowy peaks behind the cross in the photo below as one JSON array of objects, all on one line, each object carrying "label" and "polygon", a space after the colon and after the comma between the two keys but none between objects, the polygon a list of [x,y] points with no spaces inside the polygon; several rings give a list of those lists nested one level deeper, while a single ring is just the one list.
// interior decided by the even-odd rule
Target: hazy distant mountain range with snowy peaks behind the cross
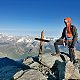
[{"label": "hazy distant mountain range with snowy peaks behind the cross", "polygon": [[[43,53],[54,53],[54,41],[57,38],[46,37],[50,42],[43,42]],[[79,42],[79,41],[78,41]],[[12,59],[23,59],[28,56],[38,55],[39,41],[32,36],[9,36],[0,33],[0,57],[9,57]],[[76,49],[80,50],[80,44],[76,44]],[[67,49],[60,47],[60,50]]]}]

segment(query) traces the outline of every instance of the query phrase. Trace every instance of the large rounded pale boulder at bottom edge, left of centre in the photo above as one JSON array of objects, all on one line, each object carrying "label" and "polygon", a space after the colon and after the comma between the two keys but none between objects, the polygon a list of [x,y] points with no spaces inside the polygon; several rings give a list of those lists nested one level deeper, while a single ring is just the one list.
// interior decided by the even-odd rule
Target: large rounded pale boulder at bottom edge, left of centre
[{"label": "large rounded pale boulder at bottom edge, left of centre", "polygon": [[46,77],[38,70],[29,70],[25,72],[20,78],[17,80],[47,80]]}]

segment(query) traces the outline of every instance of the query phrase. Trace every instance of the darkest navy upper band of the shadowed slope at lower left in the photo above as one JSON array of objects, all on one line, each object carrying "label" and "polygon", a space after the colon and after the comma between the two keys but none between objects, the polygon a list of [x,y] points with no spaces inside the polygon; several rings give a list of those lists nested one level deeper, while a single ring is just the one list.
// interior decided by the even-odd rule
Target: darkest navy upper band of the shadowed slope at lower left
[{"label": "darkest navy upper band of the shadowed slope at lower left", "polygon": [[19,63],[17,61],[14,61],[12,59],[9,59],[7,57],[0,58],[0,68],[5,66],[16,66],[17,68],[21,68],[22,70],[30,69],[29,66]]}]

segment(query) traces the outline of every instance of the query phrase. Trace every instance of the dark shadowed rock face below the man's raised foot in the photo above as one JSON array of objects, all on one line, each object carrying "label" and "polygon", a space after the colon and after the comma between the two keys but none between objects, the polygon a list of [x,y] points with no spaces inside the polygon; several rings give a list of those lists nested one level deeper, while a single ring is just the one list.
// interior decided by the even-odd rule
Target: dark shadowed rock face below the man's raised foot
[{"label": "dark shadowed rock face below the man's raised foot", "polygon": [[62,80],[65,78],[65,62],[60,62],[59,60],[55,61],[55,64],[51,68],[52,74],[49,75],[48,80]]}]

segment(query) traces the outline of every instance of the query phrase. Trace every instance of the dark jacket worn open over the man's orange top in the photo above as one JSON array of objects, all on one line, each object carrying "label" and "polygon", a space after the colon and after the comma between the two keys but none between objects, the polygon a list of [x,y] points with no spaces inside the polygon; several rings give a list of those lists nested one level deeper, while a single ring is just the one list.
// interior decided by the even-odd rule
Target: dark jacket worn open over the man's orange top
[{"label": "dark jacket worn open over the man's orange top", "polygon": [[[66,39],[66,29],[67,29],[67,27],[65,27],[63,29],[62,36],[61,36],[62,39],[63,38]],[[76,41],[77,41],[77,38],[78,38],[77,29],[76,29],[76,27],[74,25],[71,25],[71,32],[72,32],[72,35],[73,35],[73,41],[72,41],[71,45],[74,46]]]}]

